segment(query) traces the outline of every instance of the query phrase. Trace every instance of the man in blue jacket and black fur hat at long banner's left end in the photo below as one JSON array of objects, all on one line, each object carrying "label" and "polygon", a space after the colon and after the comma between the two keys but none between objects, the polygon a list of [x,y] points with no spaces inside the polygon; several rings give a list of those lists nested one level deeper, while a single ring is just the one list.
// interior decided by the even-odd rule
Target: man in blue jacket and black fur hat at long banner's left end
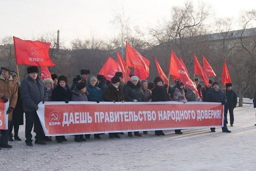
[{"label": "man in blue jacket and black fur hat at long banner's left end", "polygon": [[44,131],[37,115],[38,104],[44,101],[44,84],[38,77],[38,67],[27,67],[28,76],[21,81],[20,95],[23,104],[23,110],[26,117],[26,145],[32,145],[32,128],[36,133],[35,143],[46,145],[44,142]]}]

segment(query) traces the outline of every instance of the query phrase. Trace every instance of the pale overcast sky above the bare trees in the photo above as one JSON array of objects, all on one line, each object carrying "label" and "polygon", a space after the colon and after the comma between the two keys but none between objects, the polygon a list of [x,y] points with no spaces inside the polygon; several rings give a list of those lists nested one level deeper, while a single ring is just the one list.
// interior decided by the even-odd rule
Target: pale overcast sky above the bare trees
[{"label": "pale overcast sky above the bare trees", "polygon": [[[74,38],[90,38],[91,34],[109,38],[114,33],[110,21],[124,12],[141,29],[168,19],[173,6],[187,0],[0,0],[0,39],[16,36],[32,39],[60,30],[69,46]],[[195,6],[198,0],[192,0]],[[239,16],[242,10],[256,9],[253,0],[204,0],[212,6],[216,17]],[[236,28],[235,28],[236,29]]]}]

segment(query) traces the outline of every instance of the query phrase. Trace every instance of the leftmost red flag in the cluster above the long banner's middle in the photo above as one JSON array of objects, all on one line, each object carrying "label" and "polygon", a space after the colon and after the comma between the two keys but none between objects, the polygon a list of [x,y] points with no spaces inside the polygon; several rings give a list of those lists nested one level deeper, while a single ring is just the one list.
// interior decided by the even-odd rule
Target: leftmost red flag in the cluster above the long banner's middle
[{"label": "leftmost red flag in the cluster above the long banner's middle", "polygon": [[119,64],[111,57],[108,57],[102,69],[99,71],[99,75],[104,75],[108,81],[111,81],[116,74],[116,72],[121,72]]}]

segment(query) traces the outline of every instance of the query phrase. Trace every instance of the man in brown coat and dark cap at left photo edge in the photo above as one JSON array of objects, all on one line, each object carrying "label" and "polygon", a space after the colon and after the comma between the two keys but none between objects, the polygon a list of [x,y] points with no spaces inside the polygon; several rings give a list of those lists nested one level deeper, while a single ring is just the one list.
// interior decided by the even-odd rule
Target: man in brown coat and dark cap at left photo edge
[{"label": "man in brown coat and dark cap at left photo edge", "polygon": [[[18,86],[12,75],[10,75],[11,70],[9,67],[1,67],[2,73],[0,75],[0,98],[6,103],[9,101],[9,108],[6,114],[8,116],[8,125],[12,121],[12,112],[16,106],[18,98]],[[0,147],[2,148],[12,148],[12,145],[8,145],[9,140],[9,130],[0,130]]]}]

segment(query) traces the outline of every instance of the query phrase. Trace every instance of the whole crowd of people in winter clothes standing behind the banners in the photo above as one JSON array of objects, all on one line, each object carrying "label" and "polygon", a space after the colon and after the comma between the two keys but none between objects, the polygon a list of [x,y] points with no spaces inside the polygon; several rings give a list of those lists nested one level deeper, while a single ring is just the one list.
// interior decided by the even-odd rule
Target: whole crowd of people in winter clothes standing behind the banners
[{"label": "whole crowd of people in winter clothes standing behind the banners", "polygon": [[[73,77],[72,86],[68,86],[68,79],[64,75],[52,74],[52,78],[46,78],[43,81],[38,76],[38,67],[27,67],[28,76],[19,84],[18,75],[11,71],[9,67],[1,67],[0,75],[0,98],[6,103],[9,101],[9,108],[6,114],[9,114],[8,130],[0,130],[0,147],[12,148],[9,141],[21,141],[18,136],[19,125],[23,125],[23,113],[25,113],[25,137],[26,145],[32,144],[32,128],[34,126],[35,143],[45,145],[46,141],[52,141],[52,137],[45,136],[39,121],[37,110],[38,104],[43,101],[209,101],[221,102],[224,108],[224,127],[223,132],[230,133],[227,129],[227,112],[230,113],[230,125],[233,126],[233,109],[237,104],[236,92],[232,90],[232,84],[226,84],[226,93],[218,87],[217,82],[209,81],[208,87],[201,86],[199,78],[195,78],[199,97],[194,90],[184,87],[179,80],[175,80],[174,87],[168,87],[160,77],[154,78],[153,82],[140,80],[135,75],[131,75],[130,80],[125,83],[122,78],[122,72],[116,72],[111,81],[106,80],[104,75],[90,75],[90,70],[81,69],[80,75]],[[167,90],[168,89],[168,90]],[[12,130],[14,128],[14,136]],[[211,128],[215,132],[215,128]],[[181,130],[175,130],[176,134],[182,134]],[[123,133],[109,133],[109,138],[120,138]],[[147,135],[145,130],[140,132],[128,132],[128,136]],[[155,131],[156,136],[164,136],[162,130]],[[14,137],[14,139],[13,139]],[[94,138],[100,139],[100,134],[94,134]],[[65,136],[56,136],[56,141],[61,143],[67,141]],[[90,134],[74,136],[75,142],[83,142],[90,139]]]}]

